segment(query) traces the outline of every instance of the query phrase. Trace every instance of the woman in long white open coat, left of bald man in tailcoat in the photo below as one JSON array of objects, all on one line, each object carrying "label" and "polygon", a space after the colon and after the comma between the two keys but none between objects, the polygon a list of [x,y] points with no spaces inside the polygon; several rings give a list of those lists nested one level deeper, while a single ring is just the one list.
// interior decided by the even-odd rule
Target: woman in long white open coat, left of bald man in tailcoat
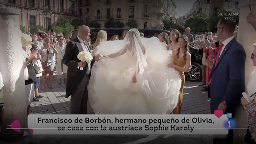
[{"label": "woman in long white open coat, left of bald man in tailcoat", "polygon": [[68,67],[66,65],[63,65],[62,59],[65,54],[66,50],[66,44],[64,42],[64,38],[62,36],[59,36],[58,38],[59,43],[55,46],[55,49],[58,51],[57,54],[57,75],[59,77],[59,84],[62,83],[61,77],[62,77],[62,72],[63,72],[63,77],[64,77],[64,83],[66,83],[66,78],[67,78],[67,71]]}]

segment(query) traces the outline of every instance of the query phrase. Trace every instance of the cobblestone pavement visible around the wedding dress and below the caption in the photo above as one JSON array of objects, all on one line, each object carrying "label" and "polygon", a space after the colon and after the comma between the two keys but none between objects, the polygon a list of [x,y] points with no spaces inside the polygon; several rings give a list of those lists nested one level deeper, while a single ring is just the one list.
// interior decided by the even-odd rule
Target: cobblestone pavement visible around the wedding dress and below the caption
[{"label": "cobblestone pavement visible around the wedding dress and below the caption", "polygon": [[[210,114],[210,101],[201,92],[199,82],[186,82],[181,114]],[[31,114],[69,114],[70,97],[65,98],[65,84],[59,84],[54,76],[54,89],[49,80],[39,94],[40,102],[32,103]],[[32,143],[212,143],[211,135],[33,135]],[[23,140],[26,143],[26,140]],[[20,143],[22,143],[20,141]]]}]

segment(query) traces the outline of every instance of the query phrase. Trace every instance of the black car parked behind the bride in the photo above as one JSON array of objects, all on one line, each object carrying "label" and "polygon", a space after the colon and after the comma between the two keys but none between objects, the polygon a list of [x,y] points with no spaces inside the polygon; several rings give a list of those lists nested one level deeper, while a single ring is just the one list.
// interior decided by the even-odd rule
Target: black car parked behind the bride
[{"label": "black car parked behind the bride", "polygon": [[[95,29],[90,29],[91,31],[91,41],[92,44],[96,41],[97,38],[97,34],[100,30],[105,30],[108,34],[108,39],[110,40],[111,36],[113,35],[118,35],[119,37],[121,37],[122,32],[124,30],[129,30],[129,28],[95,28]],[[158,34],[160,34],[161,32],[166,32],[168,35],[170,34],[170,31],[166,31],[166,30],[162,30],[162,29],[138,29],[140,32],[142,32],[144,34],[144,37],[150,38],[152,36],[158,36]],[[72,39],[75,38],[77,36],[77,29],[73,31],[72,34]],[[188,71],[188,73],[185,74],[186,79],[188,81],[193,81],[193,82],[199,82],[202,81],[202,57],[198,52],[198,49],[189,46],[189,53],[191,54],[191,66],[190,69]]]}]

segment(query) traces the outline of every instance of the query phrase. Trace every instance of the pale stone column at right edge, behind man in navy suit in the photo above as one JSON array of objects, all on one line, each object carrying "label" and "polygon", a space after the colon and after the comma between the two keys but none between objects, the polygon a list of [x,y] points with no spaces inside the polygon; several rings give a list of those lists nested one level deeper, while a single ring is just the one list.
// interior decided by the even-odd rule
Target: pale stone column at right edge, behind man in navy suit
[{"label": "pale stone column at right edge, behind man in navy suit", "polygon": [[251,54],[254,48],[252,44],[256,42],[256,32],[252,26],[246,22],[246,16],[250,13],[249,4],[251,5],[253,12],[256,13],[256,1],[239,1],[240,18],[237,32],[237,42],[243,45],[246,52],[245,86],[247,85],[253,70],[255,70],[255,67],[252,65]]}]

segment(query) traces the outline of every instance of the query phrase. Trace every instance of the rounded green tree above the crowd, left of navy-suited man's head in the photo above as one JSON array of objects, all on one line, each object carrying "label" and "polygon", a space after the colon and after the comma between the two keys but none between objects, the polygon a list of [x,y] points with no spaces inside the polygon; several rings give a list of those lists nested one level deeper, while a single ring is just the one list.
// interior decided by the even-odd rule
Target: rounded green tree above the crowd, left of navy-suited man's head
[{"label": "rounded green tree above the crowd, left of navy-suited man's head", "polygon": [[186,20],[185,28],[189,27],[191,31],[206,31],[209,17],[205,13],[201,13],[193,18]]}]

